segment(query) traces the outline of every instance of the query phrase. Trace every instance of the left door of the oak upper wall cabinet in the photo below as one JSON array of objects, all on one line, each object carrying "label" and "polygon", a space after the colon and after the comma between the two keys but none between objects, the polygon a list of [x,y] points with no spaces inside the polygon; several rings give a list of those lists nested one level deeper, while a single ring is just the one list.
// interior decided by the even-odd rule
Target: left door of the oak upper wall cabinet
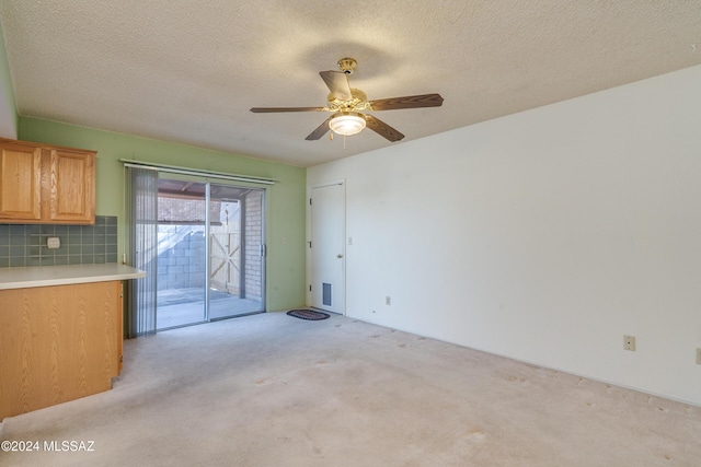
[{"label": "left door of the oak upper wall cabinet", "polygon": [[39,220],[42,217],[42,150],[0,144],[0,219]]}]

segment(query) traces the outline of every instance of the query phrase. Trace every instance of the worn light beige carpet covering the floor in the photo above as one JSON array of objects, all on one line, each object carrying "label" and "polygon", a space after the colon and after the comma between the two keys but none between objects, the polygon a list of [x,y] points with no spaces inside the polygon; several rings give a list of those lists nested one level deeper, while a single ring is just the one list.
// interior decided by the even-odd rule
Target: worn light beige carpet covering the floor
[{"label": "worn light beige carpet covering the floor", "polygon": [[336,315],[128,340],[112,390],[0,430],[39,443],[3,466],[701,465],[699,407]]}]

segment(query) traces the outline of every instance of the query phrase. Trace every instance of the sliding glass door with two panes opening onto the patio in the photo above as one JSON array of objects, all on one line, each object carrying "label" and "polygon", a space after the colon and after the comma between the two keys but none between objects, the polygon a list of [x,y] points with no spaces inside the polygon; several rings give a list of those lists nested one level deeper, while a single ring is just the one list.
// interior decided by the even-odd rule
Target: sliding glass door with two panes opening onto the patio
[{"label": "sliding glass door with two panes opening onto the patio", "polygon": [[265,310],[264,195],[159,178],[158,330]]}]

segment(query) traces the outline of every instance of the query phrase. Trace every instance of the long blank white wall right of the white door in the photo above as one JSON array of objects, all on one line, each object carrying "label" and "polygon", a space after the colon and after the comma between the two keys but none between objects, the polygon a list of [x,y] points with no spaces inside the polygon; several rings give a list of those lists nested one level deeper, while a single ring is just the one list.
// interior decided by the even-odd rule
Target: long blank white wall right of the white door
[{"label": "long blank white wall right of the white door", "polygon": [[347,316],[701,405],[700,86],[693,67],[310,167],[347,182]]}]

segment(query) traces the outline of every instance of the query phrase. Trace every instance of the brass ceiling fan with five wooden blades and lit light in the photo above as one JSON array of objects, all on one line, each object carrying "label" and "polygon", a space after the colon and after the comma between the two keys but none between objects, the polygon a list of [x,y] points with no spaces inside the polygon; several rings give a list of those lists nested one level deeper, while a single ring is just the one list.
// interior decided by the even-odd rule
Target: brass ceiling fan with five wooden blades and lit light
[{"label": "brass ceiling fan with five wooden blades and lit light", "polygon": [[439,107],[443,105],[443,97],[440,94],[435,93],[368,101],[367,95],[363,91],[350,87],[350,84],[348,84],[348,75],[353,73],[356,67],[357,62],[355,59],[342,58],[338,60],[341,71],[329,70],[319,72],[331,91],[325,107],[253,107],[251,112],[331,112],[332,115],[314,131],[309,133],[306,138],[307,140],[318,140],[330,129],[338,135],[350,136],[359,133],[367,126],[379,136],[394,142],[404,138],[404,135],[365,112]]}]

